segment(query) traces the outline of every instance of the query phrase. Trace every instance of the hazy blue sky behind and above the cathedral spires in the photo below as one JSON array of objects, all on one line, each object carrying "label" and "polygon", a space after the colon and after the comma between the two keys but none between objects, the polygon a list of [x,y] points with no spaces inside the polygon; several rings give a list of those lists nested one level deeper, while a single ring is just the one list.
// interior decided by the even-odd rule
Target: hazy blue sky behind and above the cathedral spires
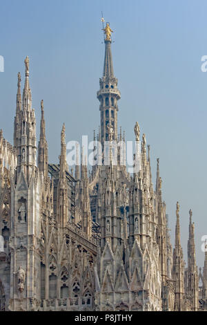
[{"label": "hazy blue sky behind and above the cathedral spires", "polygon": [[44,100],[51,162],[66,140],[92,137],[99,126],[96,92],[103,71],[101,10],[113,33],[112,56],[119,80],[119,125],[127,140],[134,124],[151,147],[153,182],[160,158],[163,198],[172,244],[176,202],[180,204],[181,243],[186,257],[188,211],[193,210],[197,263],[203,266],[201,236],[206,222],[207,1],[0,1],[0,127],[12,142],[17,73],[30,57],[30,86],[39,135],[40,101]]}]

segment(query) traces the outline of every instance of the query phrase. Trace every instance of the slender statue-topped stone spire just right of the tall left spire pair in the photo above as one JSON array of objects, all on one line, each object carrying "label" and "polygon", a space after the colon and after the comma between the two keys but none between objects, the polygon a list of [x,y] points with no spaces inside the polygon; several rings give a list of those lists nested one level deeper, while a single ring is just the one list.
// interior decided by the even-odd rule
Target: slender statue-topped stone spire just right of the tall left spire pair
[{"label": "slender statue-topped stone spire just right of the tall left spire pair", "polygon": [[46,140],[46,122],[44,118],[43,100],[41,100],[41,122],[38,145],[38,167],[44,176],[48,176],[48,143]]}]

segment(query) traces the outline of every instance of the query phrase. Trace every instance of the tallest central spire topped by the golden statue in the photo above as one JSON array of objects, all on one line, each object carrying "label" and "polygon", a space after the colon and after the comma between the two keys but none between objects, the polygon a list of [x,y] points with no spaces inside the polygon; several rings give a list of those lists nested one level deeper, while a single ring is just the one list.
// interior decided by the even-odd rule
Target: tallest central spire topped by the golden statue
[{"label": "tallest central spire topped by the golden statue", "polygon": [[[108,23],[107,23],[108,24]],[[101,145],[104,141],[109,141],[108,125],[113,129],[113,140],[117,139],[117,101],[121,98],[121,94],[117,89],[117,78],[114,76],[112,66],[111,53],[111,38],[109,24],[103,29],[106,38],[105,43],[105,57],[103,64],[103,76],[99,80],[100,90],[97,92],[97,98],[100,102],[99,110],[101,111]]]}]

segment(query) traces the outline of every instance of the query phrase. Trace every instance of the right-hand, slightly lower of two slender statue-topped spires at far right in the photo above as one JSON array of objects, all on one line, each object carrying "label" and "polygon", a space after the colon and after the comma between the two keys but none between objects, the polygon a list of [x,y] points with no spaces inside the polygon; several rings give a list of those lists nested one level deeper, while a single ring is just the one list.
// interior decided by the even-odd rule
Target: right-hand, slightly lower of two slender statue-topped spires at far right
[{"label": "right-hand, slightly lower of two slender statue-topped spires at far right", "polygon": [[188,239],[188,297],[192,304],[192,310],[197,311],[198,308],[198,272],[195,259],[195,239],[194,239],[194,223],[192,223],[192,210],[189,211],[189,239]]}]

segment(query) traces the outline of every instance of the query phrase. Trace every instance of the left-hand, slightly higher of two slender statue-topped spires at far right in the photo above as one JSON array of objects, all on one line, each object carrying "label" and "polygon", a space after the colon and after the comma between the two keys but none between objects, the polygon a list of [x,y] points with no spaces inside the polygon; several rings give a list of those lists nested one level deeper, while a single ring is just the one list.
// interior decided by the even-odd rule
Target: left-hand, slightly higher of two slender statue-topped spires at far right
[{"label": "left-hand, slightly higher of two slender statue-topped spires at far right", "polygon": [[184,255],[180,241],[179,203],[176,208],[175,248],[173,250],[172,277],[175,281],[175,310],[184,310]]}]

